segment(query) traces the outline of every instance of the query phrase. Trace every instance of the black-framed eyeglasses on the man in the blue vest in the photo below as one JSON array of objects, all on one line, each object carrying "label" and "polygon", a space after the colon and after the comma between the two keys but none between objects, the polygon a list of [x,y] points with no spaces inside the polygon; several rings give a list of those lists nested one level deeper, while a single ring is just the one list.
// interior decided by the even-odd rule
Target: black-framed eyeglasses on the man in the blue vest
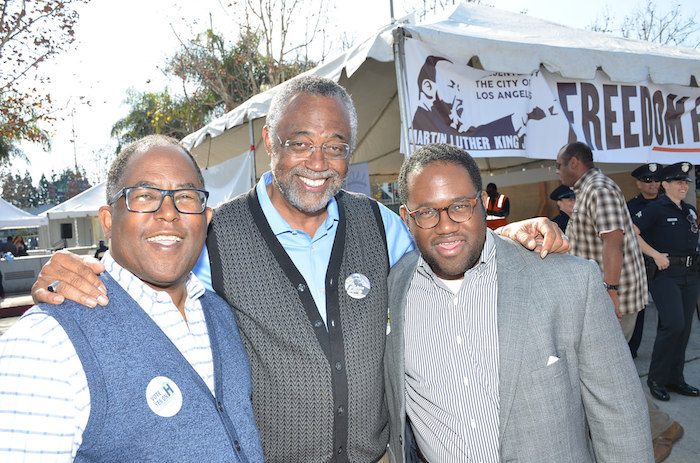
[{"label": "black-framed eyeglasses on the man in the blue vest", "polygon": [[161,190],[160,188],[130,186],[119,190],[108,204],[111,206],[124,196],[126,209],[130,212],[156,212],[163,205],[166,196],[170,196],[175,209],[181,214],[201,214],[207,208],[209,192],[196,188]]}]

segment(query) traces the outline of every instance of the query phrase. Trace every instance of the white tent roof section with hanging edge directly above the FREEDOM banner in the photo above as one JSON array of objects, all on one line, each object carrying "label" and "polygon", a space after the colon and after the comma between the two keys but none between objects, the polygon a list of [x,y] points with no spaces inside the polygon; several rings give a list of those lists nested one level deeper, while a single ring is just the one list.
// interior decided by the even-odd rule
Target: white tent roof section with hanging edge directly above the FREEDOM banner
[{"label": "white tent roof section with hanging edge directly above the FREEDOM banner", "polygon": [[[405,29],[432,48],[449,44],[450,56],[465,63],[477,56],[487,71],[529,74],[541,64],[572,79],[593,79],[600,68],[617,82],[700,81],[698,50],[574,29],[495,8],[461,5],[444,21]],[[460,40],[465,36],[469,41]]]}]

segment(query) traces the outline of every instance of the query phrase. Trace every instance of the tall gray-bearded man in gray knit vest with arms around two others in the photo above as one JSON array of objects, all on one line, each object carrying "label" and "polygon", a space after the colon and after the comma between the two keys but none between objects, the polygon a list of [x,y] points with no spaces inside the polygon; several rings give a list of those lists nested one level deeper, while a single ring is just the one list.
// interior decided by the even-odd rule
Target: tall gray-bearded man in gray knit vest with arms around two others
[{"label": "tall gray-bearded man in gray knit vest with arms around two others", "polygon": [[[234,308],[253,373],[253,407],[268,462],[376,462],[389,439],[382,356],[386,277],[413,241],[400,218],[341,190],[356,144],[357,116],[332,80],[290,80],[263,128],[271,172],[220,206],[195,273]],[[567,247],[546,220],[504,233],[546,250]],[[61,253],[33,295],[53,280],[60,294],[102,304],[92,271]],[[60,298],[57,298],[60,299]],[[382,460],[386,461],[386,460]]]}]

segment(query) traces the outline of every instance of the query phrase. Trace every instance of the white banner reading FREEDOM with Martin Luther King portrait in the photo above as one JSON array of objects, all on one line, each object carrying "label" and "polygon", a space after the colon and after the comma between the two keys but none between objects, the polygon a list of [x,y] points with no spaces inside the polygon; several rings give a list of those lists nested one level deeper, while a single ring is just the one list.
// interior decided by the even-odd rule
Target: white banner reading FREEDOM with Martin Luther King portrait
[{"label": "white banner reading FREEDOM with Martin Luther King portrait", "polygon": [[700,89],[493,73],[406,38],[412,152],[448,143],[475,157],[555,159],[580,140],[600,162],[700,164]]}]

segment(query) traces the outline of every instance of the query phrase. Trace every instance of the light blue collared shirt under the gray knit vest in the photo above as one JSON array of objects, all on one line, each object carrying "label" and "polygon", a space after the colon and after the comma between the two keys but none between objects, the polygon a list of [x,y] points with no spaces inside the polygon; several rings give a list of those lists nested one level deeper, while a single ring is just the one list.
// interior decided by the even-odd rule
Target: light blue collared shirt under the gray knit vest
[{"label": "light blue collared shirt under the gray knit vest", "polygon": [[[311,290],[311,294],[318,307],[323,321],[326,321],[326,269],[330,262],[335,233],[338,230],[338,203],[335,198],[328,201],[326,220],[318,227],[313,237],[301,230],[293,229],[287,221],[277,212],[267,194],[267,185],[272,183],[272,173],[265,172],[255,186],[260,207],[270,224],[280,244],[294,262],[299,273],[304,277]],[[384,222],[384,231],[389,248],[389,265],[393,266],[407,252],[413,251],[415,245],[411,234],[401,218],[383,204],[379,204],[379,211]],[[194,268],[204,285],[212,289],[211,267],[209,266],[209,254],[205,247],[202,255]]]}]

